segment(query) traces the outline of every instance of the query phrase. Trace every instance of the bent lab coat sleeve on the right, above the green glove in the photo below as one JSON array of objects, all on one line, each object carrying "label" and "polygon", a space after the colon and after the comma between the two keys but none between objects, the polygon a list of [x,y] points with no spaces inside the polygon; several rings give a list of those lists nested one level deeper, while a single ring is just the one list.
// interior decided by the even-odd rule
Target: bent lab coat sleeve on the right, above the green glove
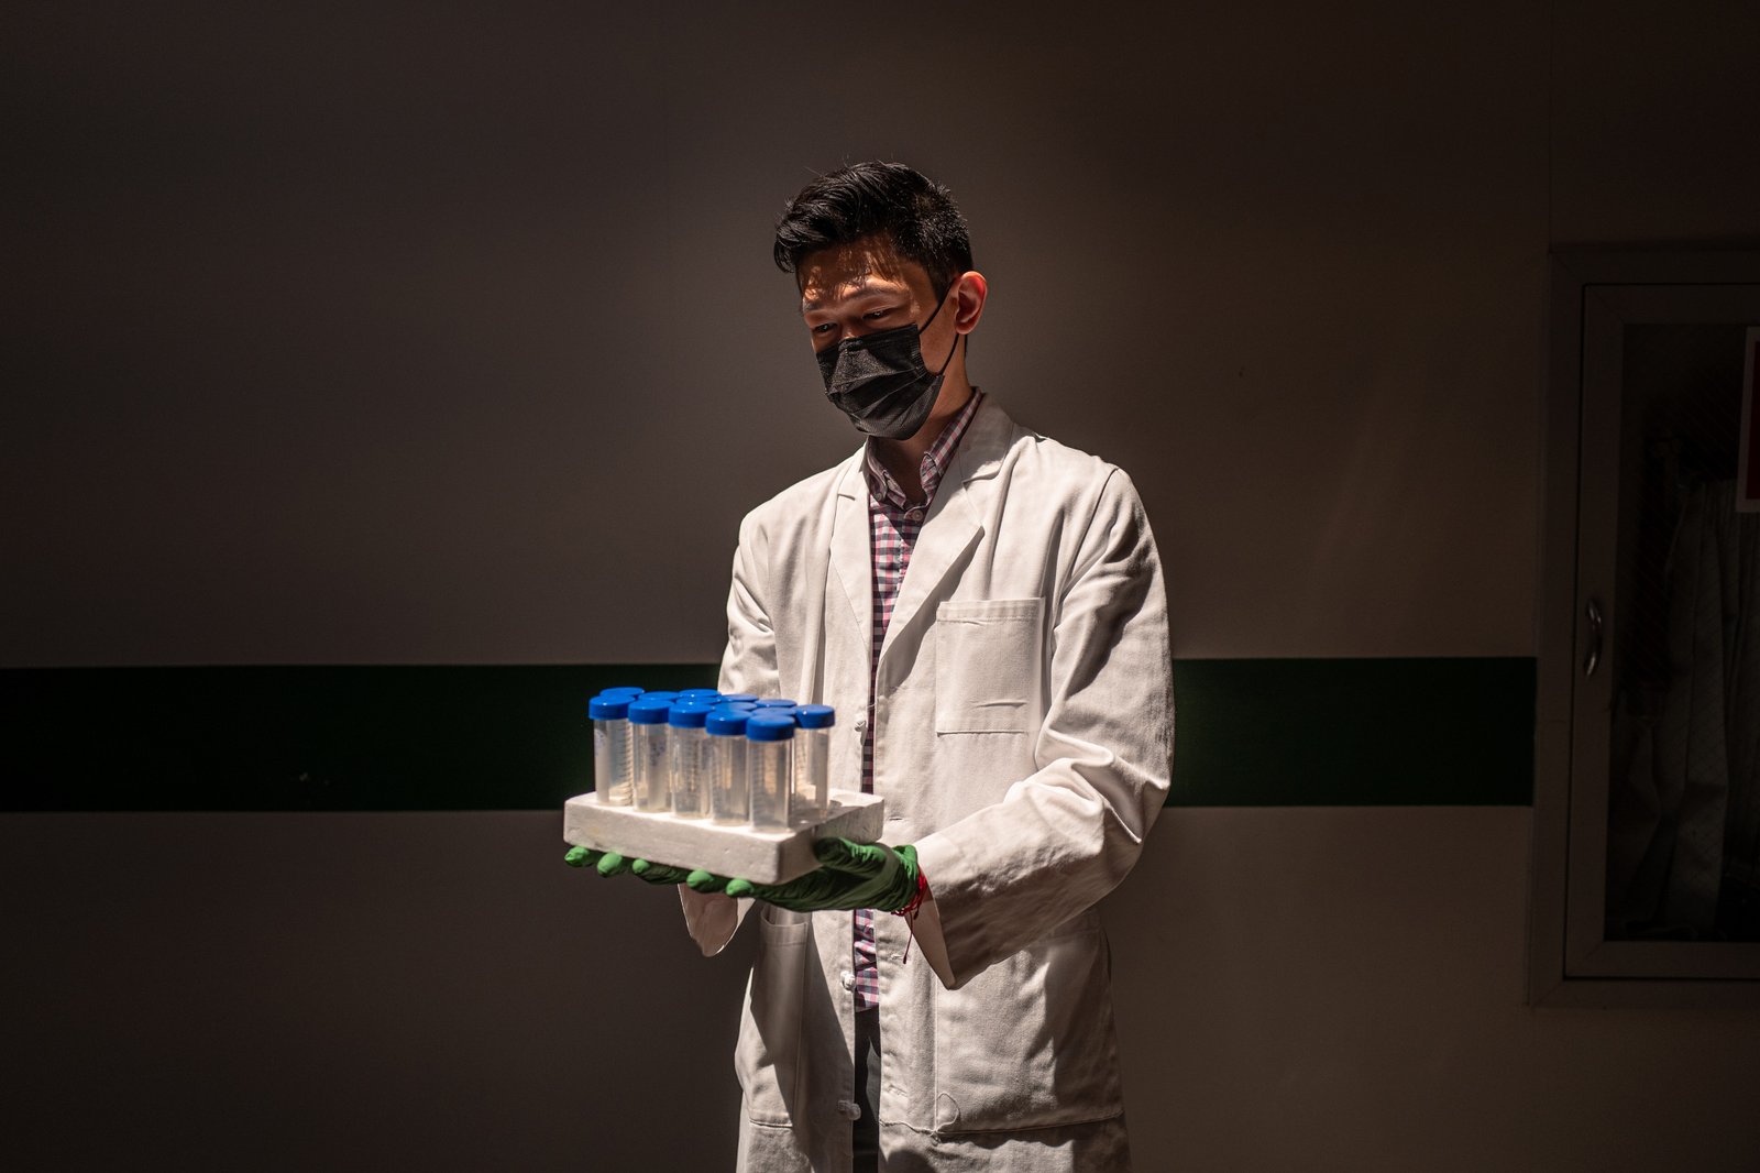
[{"label": "bent lab coat sleeve on the right, above the green glove", "polygon": [[[1030,777],[917,842],[933,895],[913,932],[957,988],[1089,909],[1135,865],[1167,798],[1167,586],[1130,479],[1109,472],[1060,574]],[[954,778],[936,778],[942,786]]]}]

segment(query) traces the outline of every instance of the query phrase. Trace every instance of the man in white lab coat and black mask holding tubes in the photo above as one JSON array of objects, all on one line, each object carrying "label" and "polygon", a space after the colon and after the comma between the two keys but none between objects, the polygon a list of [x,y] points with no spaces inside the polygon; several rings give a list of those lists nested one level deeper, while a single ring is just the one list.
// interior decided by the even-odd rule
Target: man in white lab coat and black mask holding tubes
[{"label": "man in white lab coat and black mask holding tubes", "polygon": [[885,798],[896,851],[679,888],[704,953],[759,921],[739,1168],[1126,1169],[1095,904],[1169,786],[1149,523],[1119,468],[968,382],[987,285],[945,188],[822,176],[774,255],[866,442],[741,525],[720,687],[838,706],[832,786]]}]

